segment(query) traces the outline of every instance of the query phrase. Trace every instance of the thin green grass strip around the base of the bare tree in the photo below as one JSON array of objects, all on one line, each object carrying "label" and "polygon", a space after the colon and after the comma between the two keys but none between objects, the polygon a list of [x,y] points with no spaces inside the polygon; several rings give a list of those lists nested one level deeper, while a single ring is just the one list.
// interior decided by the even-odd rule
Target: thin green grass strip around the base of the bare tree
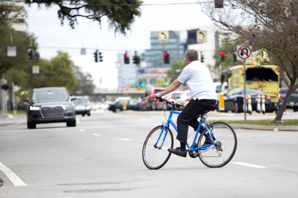
[{"label": "thin green grass strip around the base of the bare tree", "polygon": [[283,123],[272,123],[273,120],[208,120],[208,122],[226,122],[228,124],[257,124],[267,126],[298,126],[298,120],[283,120]]}]

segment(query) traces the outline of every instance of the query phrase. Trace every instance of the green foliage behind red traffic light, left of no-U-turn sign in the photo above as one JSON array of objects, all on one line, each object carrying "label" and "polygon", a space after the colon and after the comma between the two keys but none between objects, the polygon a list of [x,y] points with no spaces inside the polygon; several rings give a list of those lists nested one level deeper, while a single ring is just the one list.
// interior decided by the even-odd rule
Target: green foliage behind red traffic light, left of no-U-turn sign
[{"label": "green foliage behind red traffic light, left of no-U-turn sign", "polygon": [[[216,48],[215,54],[213,55],[213,58],[216,59],[214,68],[218,68],[219,65],[221,65],[221,69],[225,70],[227,67],[243,64],[243,62],[241,61],[234,62],[233,51],[236,51],[236,45],[239,45],[239,41],[237,42],[224,41],[222,42],[222,45],[220,47]],[[220,52],[225,53],[224,62],[221,62]]]}]

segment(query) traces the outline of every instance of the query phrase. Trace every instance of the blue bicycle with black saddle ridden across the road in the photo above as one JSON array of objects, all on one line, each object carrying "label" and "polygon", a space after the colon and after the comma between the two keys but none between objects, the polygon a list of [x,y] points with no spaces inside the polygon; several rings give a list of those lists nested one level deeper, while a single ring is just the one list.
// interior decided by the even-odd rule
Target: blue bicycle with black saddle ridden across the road
[{"label": "blue bicycle with black saddle ridden across the road", "polygon": [[[152,129],[145,139],[142,150],[143,162],[149,169],[161,168],[171,157],[171,153],[167,151],[167,149],[173,148],[174,144],[170,124],[177,131],[177,126],[172,120],[172,115],[180,114],[181,112],[174,111],[174,109],[182,107],[182,105],[162,98],[157,99],[159,102],[172,105],[172,107],[167,122]],[[229,124],[225,122],[208,123],[206,121],[205,115],[213,107],[214,105],[210,105],[201,115],[197,116],[200,122],[194,141],[191,146],[188,143],[186,144],[189,156],[191,158],[198,157],[204,165],[210,168],[222,167],[228,164],[233,158],[237,147],[235,131]],[[206,129],[197,138],[202,123],[204,123]]]}]

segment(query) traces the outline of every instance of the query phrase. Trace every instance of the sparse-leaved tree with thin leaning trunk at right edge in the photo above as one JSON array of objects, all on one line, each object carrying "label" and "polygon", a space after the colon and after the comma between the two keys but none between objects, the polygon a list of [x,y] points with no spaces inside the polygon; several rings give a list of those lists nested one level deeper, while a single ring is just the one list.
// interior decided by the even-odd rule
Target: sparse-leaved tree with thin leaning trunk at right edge
[{"label": "sparse-leaved tree with thin leaning trunk at right edge", "polygon": [[244,39],[254,49],[266,49],[290,79],[289,91],[273,122],[280,122],[292,92],[298,87],[298,1],[225,1],[223,9],[203,6],[214,24],[232,32],[231,40]]}]

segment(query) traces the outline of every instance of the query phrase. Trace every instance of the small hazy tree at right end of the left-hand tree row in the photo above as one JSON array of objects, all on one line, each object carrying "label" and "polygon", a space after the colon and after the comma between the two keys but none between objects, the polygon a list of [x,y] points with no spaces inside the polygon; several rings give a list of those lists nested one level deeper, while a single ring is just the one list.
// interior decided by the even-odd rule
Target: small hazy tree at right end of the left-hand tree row
[{"label": "small hazy tree at right end of the left-hand tree row", "polygon": [[78,84],[69,90],[70,95],[92,95],[95,85],[91,79],[91,74],[84,74],[79,67],[72,65],[72,71],[76,76]]}]

